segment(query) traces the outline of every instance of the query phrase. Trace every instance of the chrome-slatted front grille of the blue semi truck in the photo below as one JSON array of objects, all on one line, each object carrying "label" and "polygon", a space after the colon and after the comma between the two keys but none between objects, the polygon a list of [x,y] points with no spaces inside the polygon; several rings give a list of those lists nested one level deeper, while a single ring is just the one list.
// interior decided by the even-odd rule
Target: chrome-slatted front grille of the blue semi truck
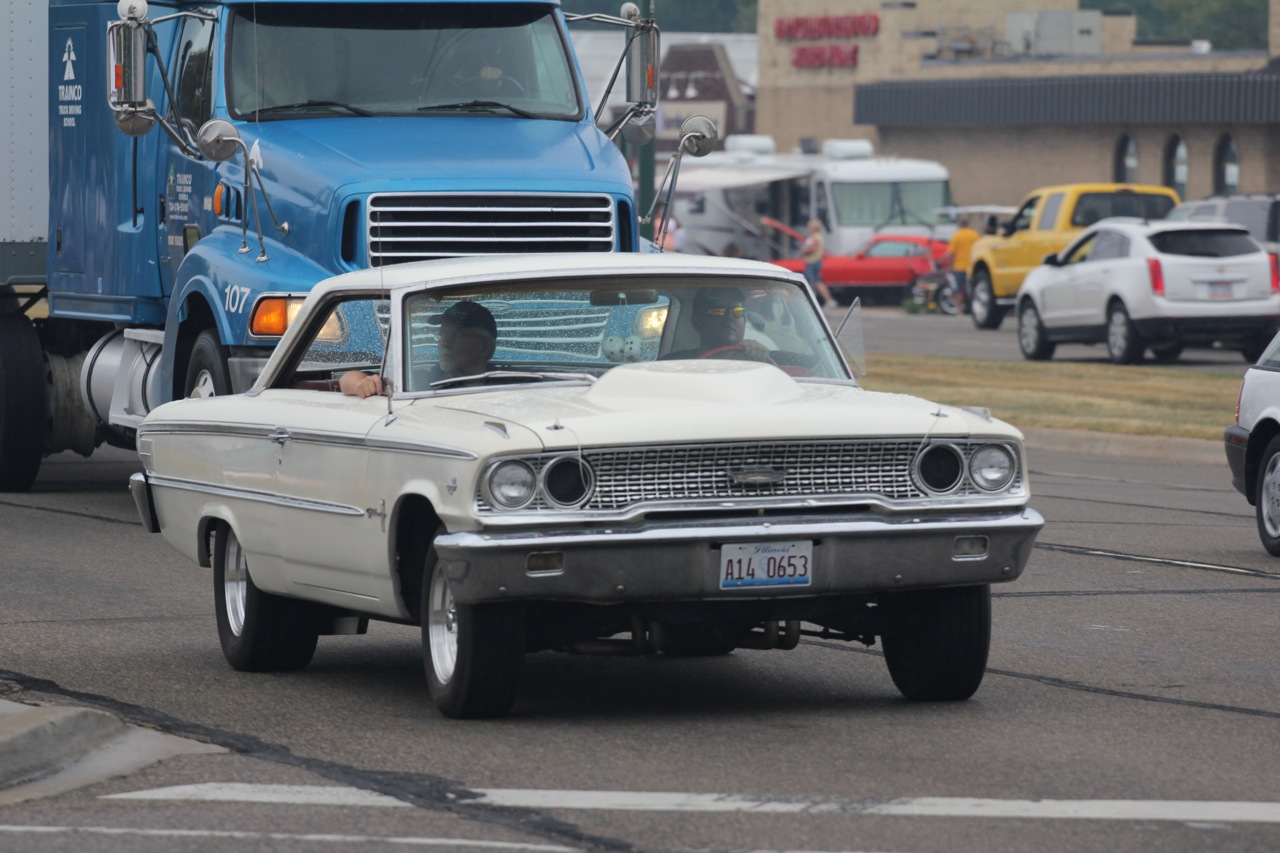
[{"label": "chrome-slatted front grille of the blue semi truck", "polygon": [[598,195],[376,193],[369,265],[509,252],[611,252],[613,200]]}]

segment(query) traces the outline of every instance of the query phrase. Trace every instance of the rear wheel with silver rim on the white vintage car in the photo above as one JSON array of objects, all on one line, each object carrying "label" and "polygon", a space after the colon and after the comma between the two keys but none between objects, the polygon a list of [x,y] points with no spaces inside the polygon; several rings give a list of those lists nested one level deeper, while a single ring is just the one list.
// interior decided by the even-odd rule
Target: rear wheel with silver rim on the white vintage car
[{"label": "rear wheel with silver rim on the white vintage car", "polygon": [[320,635],[316,606],[265,593],[230,525],[214,539],[214,612],[223,656],[241,672],[289,672],[311,662]]}]

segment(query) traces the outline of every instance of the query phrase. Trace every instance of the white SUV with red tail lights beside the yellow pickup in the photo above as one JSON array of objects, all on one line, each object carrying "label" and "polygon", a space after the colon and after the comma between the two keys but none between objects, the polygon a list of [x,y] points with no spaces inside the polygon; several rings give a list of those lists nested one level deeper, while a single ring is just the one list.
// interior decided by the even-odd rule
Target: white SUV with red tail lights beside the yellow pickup
[{"label": "white SUV with red tail lights beside the yellow pickup", "polygon": [[1275,256],[1225,223],[1105,219],[1046,256],[1018,295],[1018,345],[1032,360],[1105,342],[1116,364],[1215,343],[1253,361],[1277,325]]}]

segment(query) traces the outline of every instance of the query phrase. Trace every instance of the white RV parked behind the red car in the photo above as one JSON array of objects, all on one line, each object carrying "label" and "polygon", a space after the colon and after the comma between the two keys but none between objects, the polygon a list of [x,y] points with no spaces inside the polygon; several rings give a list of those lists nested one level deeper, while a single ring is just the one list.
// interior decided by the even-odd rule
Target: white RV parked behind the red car
[{"label": "white RV parked behind the red car", "polygon": [[805,233],[823,222],[827,252],[852,254],[873,233],[950,240],[955,222],[946,167],[874,156],[867,140],[827,140],[820,154],[777,154],[767,136],[724,140],[686,163],[673,204],[682,251],[772,260],[797,246],[778,224]]}]

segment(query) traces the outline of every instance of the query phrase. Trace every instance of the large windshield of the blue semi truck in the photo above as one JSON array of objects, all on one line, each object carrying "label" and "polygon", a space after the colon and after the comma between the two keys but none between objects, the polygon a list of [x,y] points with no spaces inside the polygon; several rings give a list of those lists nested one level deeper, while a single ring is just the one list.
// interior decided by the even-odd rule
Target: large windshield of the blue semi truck
[{"label": "large windshield of the blue semi truck", "polygon": [[585,114],[550,5],[243,5],[227,56],[239,119]]}]

